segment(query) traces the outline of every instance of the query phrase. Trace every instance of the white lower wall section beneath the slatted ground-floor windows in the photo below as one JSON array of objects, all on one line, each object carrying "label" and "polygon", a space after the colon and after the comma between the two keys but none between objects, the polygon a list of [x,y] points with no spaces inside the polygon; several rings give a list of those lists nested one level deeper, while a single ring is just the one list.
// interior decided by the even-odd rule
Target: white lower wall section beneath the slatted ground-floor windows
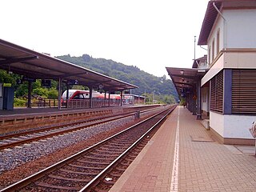
[{"label": "white lower wall section beneath the slatted ground-floor windows", "polygon": [[256,121],[255,116],[223,115],[210,111],[210,128],[222,138],[253,138],[249,128],[254,121]]}]

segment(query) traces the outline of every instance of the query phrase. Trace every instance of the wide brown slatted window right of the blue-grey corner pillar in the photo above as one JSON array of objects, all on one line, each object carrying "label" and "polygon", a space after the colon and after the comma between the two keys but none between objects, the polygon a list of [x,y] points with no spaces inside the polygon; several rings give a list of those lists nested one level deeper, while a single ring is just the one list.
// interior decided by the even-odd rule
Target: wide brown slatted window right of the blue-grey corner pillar
[{"label": "wide brown slatted window right of the blue-grey corner pillar", "polygon": [[232,114],[256,114],[256,70],[232,70]]}]

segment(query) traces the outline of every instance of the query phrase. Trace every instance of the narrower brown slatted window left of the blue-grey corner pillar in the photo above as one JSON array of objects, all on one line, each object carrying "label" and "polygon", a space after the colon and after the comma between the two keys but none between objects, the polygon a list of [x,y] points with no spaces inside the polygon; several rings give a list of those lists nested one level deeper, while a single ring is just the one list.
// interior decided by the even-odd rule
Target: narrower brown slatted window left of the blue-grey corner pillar
[{"label": "narrower brown slatted window left of the blue-grey corner pillar", "polygon": [[210,80],[210,110],[223,113],[223,70]]}]

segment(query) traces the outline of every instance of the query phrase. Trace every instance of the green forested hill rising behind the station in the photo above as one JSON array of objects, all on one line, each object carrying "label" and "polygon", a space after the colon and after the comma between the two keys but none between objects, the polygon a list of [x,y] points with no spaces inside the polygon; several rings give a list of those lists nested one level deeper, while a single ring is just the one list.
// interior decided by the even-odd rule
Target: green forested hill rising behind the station
[{"label": "green forested hill rising behind the station", "polygon": [[178,100],[173,82],[167,79],[165,75],[156,77],[138,69],[137,66],[126,66],[105,58],[92,58],[88,54],[83,54],[81,57],[71,57],[70,54],[67,54],[56,58],[138,86],[138,89],[131,90],[132,94],[142,95],[145,92],[147,94],[154,92],[158,97],[172,95],[176,101]]}]

